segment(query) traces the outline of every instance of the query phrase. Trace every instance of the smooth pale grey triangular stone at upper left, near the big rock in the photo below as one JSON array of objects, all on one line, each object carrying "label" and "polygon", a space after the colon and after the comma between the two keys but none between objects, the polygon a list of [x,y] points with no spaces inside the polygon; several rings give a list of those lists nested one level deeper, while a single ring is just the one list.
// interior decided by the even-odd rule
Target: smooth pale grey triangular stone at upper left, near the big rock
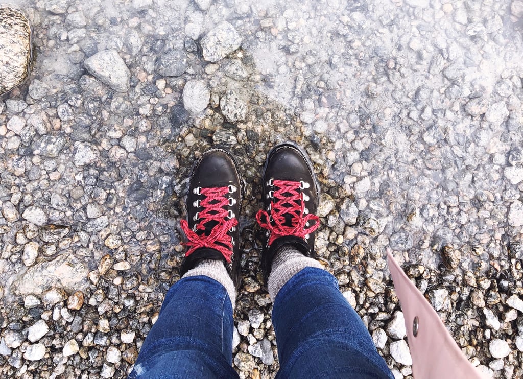
[{"label": "smooth pale grey triangular stone at upper left, near the big rock", "polygon": [[98,52],[84,61],[87,71],[115,91],[127,92],[131,72],[116,50]]}]

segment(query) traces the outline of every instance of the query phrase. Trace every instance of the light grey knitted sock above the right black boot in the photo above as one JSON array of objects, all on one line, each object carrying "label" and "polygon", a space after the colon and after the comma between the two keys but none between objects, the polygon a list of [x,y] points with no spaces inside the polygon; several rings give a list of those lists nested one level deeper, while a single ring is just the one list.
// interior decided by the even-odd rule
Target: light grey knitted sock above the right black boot
[{"label": "light grey knitted sock above the right black boot", "polygon": [[294,247],[283,246],[278,250],[274,259],[272,259],[272,270],[267,283],[267,289],[273,303],[283,285],[305,267],[323,268],[320,262],[305,257]]}]

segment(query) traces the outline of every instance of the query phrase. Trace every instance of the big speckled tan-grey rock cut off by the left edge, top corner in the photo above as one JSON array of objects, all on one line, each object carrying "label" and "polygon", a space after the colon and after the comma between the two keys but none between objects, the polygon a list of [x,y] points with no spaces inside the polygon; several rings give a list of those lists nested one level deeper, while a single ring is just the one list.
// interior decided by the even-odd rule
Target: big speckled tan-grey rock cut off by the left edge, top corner
[{"label": "big speckled tan-grey rock cut off by the left edge, top corner", "polygon": [[0,95],[24,82],[31,62],[31,26],[19,10],[0,6]]}]

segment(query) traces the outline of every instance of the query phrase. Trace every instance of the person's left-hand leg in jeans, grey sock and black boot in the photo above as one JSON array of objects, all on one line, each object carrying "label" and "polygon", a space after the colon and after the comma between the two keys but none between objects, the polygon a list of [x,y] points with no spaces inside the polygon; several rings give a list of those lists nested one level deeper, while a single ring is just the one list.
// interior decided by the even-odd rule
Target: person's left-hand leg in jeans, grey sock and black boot
[{"label": "person's left-hand leg in jeans, grey sock and black boot", "polygon": [[183,277],[167,292],[130,378],[234,378],[235,285],[240,277],[237,227],[242,181],[232,155],[211,148],[189,181]]}]

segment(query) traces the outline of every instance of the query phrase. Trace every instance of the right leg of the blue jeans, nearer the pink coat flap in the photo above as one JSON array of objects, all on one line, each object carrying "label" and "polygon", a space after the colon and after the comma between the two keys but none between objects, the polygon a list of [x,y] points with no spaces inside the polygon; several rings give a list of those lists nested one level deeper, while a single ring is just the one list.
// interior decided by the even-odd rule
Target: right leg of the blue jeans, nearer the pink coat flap
[{"label": "right leg of the blue jeans, nearer the pink coat flap", "polygon": [[[310,259],[310,258],[308,258]],[[269,286],[278,281],[273,268]],[[274,296],[280,378],[393,378],[361,318],[327,271],[306,267]]]}]

